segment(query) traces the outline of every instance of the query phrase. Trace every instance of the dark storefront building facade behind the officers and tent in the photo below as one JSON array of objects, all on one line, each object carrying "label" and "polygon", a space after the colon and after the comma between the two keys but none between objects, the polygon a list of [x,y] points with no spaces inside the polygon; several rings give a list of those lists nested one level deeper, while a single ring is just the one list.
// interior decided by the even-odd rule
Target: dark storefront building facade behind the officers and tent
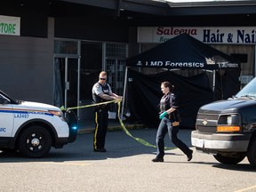
[{"label": "dark storefront building facade behind the officers and tent", "polygon": [[[236,28],[251,29],[256,26],[255,15],[237,23],[239,14],[220,21],[220,16],[206,15],[201,19],[202,15],[184,18],[122,9],[113,12],[62,1],[40,0],[37,4],[29,0],[4,1],[1,23],[10,24],[9,19],[18,19],[15,22],[20,29],[17,34],[0,33],[0,89],[19,100],[76,107],[91,103],[92,84],[98,81],[100,70],[106,70],[113,92],[122,95],[126,58],[161,43],[141,42],[141,27],[233,28],[236,25]],[[251,37],[255,36],[252,30],[251,33]],[[244,62],[242,74],[255,76],[254,43],[211,45],[221,52],[240,56]],[[77,116],[92,119],[91,111],[77,110]]]}]

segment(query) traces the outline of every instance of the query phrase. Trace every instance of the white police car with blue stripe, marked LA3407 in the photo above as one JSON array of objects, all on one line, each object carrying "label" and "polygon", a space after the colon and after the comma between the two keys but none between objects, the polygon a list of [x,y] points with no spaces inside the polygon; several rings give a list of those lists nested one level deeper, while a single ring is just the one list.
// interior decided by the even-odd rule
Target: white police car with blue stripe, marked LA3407
[{"label": "white police car with blue stripe, marked LA3407", "polygon": [[0,150],[26,157],[46,156],[50,149],[74,142],[77,120],[52,105],[13,100],[0,90]]}]

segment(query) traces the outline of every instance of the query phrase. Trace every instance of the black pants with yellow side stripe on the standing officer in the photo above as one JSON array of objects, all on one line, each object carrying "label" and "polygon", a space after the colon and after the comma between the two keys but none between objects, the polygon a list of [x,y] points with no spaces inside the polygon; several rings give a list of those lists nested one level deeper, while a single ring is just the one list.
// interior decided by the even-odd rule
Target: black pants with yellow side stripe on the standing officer
[{"label": "black pants with yellow side stripe on the standing officer", "polygon": [[96,110],[95,118],[95,132],[93,137],[93,148],[105,148],[105,139],[108,131],[108,110]]}]

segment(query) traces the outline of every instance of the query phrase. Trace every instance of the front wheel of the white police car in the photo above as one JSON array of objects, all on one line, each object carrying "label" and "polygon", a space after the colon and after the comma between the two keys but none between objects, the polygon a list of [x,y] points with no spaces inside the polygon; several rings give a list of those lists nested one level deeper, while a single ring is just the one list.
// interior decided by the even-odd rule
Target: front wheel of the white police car
[{"label": "front wheel of the white police car", "polygon": [[18,145],[23,156],[43,157],[52,147],[52,136],[44,127],[33,125],[21,132]]}]

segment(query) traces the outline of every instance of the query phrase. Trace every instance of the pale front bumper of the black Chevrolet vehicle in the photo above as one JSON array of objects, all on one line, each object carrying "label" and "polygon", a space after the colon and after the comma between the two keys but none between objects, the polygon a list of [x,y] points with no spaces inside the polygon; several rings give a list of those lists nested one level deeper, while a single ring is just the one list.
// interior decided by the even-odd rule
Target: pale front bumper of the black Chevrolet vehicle
[{"label": "pale front bumper of the black Chevrolet vehicle", "polygon": [[208,153],[245,152],[250,138],[251,134],[191,132],[192,146],[196,147],[197,150]]}]

